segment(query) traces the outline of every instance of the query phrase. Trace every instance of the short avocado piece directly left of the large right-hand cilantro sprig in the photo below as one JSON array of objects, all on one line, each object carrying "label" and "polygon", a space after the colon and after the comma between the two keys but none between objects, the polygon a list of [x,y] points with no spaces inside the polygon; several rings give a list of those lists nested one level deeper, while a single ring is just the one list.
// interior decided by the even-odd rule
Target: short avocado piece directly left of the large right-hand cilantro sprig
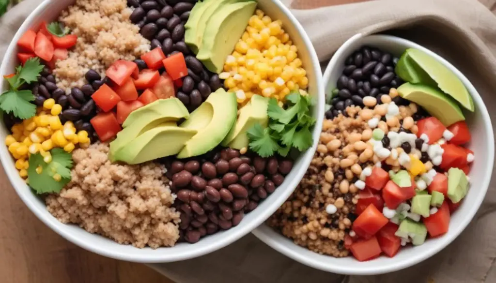
[{"label": "short avocado piece directly left of the large right-hand cilantro sprig", "polygon": [[240,109],[240,115],[238,116],[236,125],[231,129],[221,145],[234,149],[248,147],[248,129],[256,123],[259,123],[262,127],[267,126],[269,120],[267,116],[268,105],[268,98],[257,94],[253,95],[248,104]]}]

